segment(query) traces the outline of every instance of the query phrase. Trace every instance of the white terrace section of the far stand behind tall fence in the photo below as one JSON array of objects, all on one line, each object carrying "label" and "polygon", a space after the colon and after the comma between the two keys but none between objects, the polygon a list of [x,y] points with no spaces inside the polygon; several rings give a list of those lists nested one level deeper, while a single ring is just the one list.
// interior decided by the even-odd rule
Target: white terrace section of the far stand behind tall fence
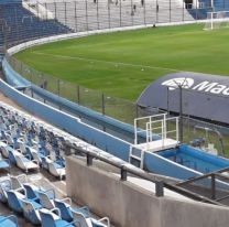
[{"label": "white terrace section of the far stand behind tall fence", "polygon": [[[92,31],[119,26],[155,24],[194,20],[181,1],[68,1],[40,3],[66,26],[77,31]],[[34,4],[36,10],[39,4]],[[159,10],[160,9],[160,10]],[[67,15],[65,15],[67,11]]]}]

